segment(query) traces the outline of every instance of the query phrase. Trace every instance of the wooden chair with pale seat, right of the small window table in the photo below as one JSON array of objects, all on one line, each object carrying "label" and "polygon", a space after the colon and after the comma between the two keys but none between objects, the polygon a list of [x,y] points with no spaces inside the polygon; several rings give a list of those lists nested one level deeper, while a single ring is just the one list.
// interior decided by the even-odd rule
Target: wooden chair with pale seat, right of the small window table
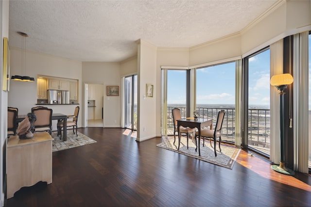
[{"label": "wooden chair with pale seat, right of the small window table", "polygon": [[[212,146],[211,139],[214,140],[215,157],[217,156],[217,153],[216,153],[217,138],[219,138],[219,150],[222,151],[222,149],[220,148],[220,143],[222,141],[221,130],[222,130],[223,122],[224,122],[224,117],[225,117],[225,110],[219,111],[215,129],[208,129],[208,128],[201,129],[201,137],[203,137],[203,146],[204,146],[205,138],[209,138],[210,146]],[[198,132],[196,132],[196,136],[198,136]],[[199,144],[200,144],[201,137],[199,137]]]}]

